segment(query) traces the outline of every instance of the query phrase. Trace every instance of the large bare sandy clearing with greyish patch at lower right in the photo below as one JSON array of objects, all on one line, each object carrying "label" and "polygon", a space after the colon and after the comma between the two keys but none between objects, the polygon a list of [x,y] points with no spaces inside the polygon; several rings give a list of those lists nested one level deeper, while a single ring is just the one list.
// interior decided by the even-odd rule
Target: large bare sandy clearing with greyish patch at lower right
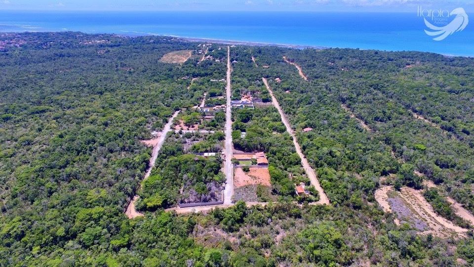
[{"label": "large bare sandy clearing with greyish patch at lower right", "polygon": [[422,190],[402,187],[396,191],[392,186],[381,186],[375,191],[375,199],[385,212],[396,215],[396,224],[408,223],[423,234],[449,237],[452,234],[466,236],[468,229],[437,215],[433,207],[423,197]]}]

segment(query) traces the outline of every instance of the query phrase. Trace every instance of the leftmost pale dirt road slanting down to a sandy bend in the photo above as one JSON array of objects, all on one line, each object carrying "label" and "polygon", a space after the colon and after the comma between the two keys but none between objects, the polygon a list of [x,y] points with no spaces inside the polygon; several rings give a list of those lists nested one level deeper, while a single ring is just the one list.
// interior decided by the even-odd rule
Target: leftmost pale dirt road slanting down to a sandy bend
[{"label": "leftmost pale dirt road slanting down to a sandy bend", "polygon": [[[142,181],[146,180],[152,173],[152,169],[153,167],[155,167],[155,161],[157,161],[157,158],[158,158],[158,152],[163,146],[164,140],[166,139],[166,135],[171,130],[171,125],[173,124],[173,120],[176,118],[176,116],[178,116],[179,112],[180,112],[179,110],[174,112],[173,116],[169,118],[168,122],[165,124],[163,130],[161,131],[158,143],[153,147],[152,157],[150,158],[150,163],[148,164],[147,172],[145,173],[145,177],[143,178]],[[140,187],[141,185],[138,187],[138,189],[140,189]],[[125,211],[125,215],[128,217],[128,219],[133,219],[135,217],[143,216],[142,213],[139,213],[135,210],[135,203],[137,202],[138,198],[139,196],[135,195],[132,201],[128,203],[127,209]]]}]

